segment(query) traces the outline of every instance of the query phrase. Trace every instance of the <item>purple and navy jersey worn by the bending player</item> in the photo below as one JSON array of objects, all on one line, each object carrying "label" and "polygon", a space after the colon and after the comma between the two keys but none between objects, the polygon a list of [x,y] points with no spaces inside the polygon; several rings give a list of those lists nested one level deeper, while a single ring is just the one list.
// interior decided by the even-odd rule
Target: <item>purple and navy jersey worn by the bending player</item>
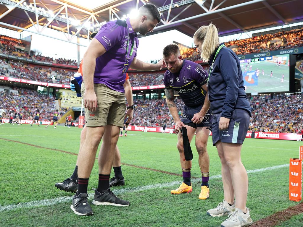
[{"label": "purple and navy jersey worn by the bending player", "polygon": [[207,78],[208,73],[201,65],[183,60],[178,73],[166,70],[163,82],[165,89],[174,89],[178,92],[186,106],[197,107],[204,104],[206,92],[202,90],[201,86],[206,84]]}]

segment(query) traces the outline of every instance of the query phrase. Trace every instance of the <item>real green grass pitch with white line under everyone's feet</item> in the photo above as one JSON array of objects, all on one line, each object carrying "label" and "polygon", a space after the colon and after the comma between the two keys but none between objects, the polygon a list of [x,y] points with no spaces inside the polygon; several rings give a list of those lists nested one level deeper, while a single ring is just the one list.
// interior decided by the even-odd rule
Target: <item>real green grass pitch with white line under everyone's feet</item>
[{"label": "real green grass pitch with white line under everyone's feet", "polygon": [[[73,194],[54,186],[74,170],[77,156],[62,151],[78,153],[80,129],[5,124],[0,126],[0,138],[0,226],[213,227],[220,226],[225,220],[225,217],[206,215],[208,209],[223,200],[220,160],[211,137],[208,141],[209,199],[198,199],[201,176],[196,152],[191,173],[197,177],[192,179],[193,192],[170,194],[182,180],[181,176],[169,174],[181,174],[175,134],[129,131],[128,137],[118,140],[122,163],[127,164],[122,165],[125,186],[113,190],[131,205],[92,205],[94,215],[85,217],[75,215],[70,209]],[[288,200],[287,166],[289,158],[298,157],[299,145],[302,143],[297,141],[245,140],[242,162],[248,170],[247,206],[254,221],[299,204]],[[194,142],[191,146],[195,151]],[[92,201],[92,188],[97,186],[96,161],[88,185],[89,202]],[[302,221],[301,213],[276,226],[303,226]]]}]

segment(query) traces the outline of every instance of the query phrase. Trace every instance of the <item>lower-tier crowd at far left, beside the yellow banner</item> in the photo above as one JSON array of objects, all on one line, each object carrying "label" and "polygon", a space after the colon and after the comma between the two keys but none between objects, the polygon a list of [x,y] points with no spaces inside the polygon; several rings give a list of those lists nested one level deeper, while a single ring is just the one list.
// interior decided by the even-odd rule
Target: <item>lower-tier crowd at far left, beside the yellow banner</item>
[{"label": "lower-tier crowd at far left, beside the yellow banner", "polygon": [[37,91],[26,88],[12,88],[17,93],[0,91],[1,104],[0,109],[5,110],[5,118],[9,118],[16,112],[23,113],[23,120],[32,120],[37,109],[40,110],[39,120],[51,120],[52,113],[56,110],[55,98]]}]

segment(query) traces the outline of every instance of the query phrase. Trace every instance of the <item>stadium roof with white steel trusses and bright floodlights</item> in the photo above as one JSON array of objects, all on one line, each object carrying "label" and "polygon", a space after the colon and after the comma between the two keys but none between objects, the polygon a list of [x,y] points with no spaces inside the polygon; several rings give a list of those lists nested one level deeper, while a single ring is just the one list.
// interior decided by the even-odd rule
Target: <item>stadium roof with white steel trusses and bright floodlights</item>
[{"label": "stadium roof with white steel trusses and bright floodlights", "polygon": [[[88,38],[107,21],[126,18],[146,3],[161,14],[154,33],[177,29],[192,36],[199,26],[213,22],[220,35],[230,35],[303,20],[301,0],[112,0],[94,9],[85,1],[0,0],[0,26],[19,32],[34,27],[30,32],[74,43],[75,37]],[[65,39],[45,35],[45,28],[61,31]]]}]

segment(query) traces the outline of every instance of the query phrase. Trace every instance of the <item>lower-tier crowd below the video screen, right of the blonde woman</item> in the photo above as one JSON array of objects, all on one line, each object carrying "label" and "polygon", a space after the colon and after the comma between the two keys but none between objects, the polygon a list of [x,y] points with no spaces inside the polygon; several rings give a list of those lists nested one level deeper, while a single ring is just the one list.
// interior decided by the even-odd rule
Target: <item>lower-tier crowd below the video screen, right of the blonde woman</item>
[{"label": "lower-tier crowd below the video screen, right of the blonde woman", "polygon": [[253,96],[249,130],[277,133],[300,133],[303,129],[301,95],[276,94]]}]

